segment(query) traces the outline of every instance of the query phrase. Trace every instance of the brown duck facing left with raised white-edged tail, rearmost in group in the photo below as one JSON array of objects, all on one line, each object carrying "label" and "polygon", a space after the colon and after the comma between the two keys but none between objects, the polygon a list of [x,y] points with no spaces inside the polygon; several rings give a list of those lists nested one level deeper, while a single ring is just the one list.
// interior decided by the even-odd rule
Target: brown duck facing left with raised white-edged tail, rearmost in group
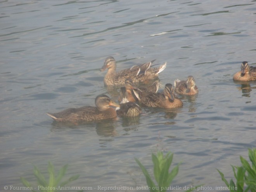
[{"label": "brown duck facing left with raised white-edged tail, rearmost in group", "polygon": [[107,57],[104,65],[100,71],[108,68],[107,74],[104,77],[104,84],[109,85],[124,85],[125,80],[131,78],[134,83],[145,82],[150,79],[157,78],[166,67],[166,63],[160,67],[150,68],[152,62],[141,64],[140,66],[133,66],[130,69],[124,69],[116,72],[116,60],[114,57]]}]

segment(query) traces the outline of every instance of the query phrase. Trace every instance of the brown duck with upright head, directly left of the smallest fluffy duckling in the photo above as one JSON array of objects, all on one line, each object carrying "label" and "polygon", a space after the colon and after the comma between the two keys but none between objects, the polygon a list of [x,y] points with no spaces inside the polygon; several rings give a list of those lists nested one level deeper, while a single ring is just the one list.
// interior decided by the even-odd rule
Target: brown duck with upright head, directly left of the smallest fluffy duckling
[{"label": "brown duck with upright head, directly left of the smallest fluffy duckling", "polygon": [[176,108],[182,107],[183,103],[173,94],[173,86],[167,83],[163,93],[141,92],[139,94],[140,103],[147,107]]}]

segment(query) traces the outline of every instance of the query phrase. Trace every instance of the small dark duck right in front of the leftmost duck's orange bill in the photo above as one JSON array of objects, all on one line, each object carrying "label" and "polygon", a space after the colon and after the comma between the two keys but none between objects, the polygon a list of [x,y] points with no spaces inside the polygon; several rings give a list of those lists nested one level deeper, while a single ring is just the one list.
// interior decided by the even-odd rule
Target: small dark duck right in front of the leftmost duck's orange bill
[{"label": "small dark duck right in front of the leftmost duck's orange bill", "polygon": [[138,106],[136,103],[134,102],[130,102],[127,99],[127,92],[125,87],[121,87],[120,88],[120,96],[122,97],[122,101],[120,103],[120,107],[116,108],[116,113],[118,114],[118,116],[120,117],[135,117],[135,116],[139,116],[140,113],[142,112],[140,106]]}]

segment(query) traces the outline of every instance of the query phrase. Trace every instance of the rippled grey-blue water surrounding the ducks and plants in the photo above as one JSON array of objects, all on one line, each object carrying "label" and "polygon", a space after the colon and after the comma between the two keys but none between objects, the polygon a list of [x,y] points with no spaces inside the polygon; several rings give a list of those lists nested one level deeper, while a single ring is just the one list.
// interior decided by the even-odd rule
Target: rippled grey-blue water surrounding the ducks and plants
[{"label": "rippled grey-blue water surrounding the ducks and plants", "polygon": [[[0,188],[35,183],[41,170],[69,164],[70,186],[145,186],[134,160],[152,168],[151,152],[182,161],[173,185],[225,186],[216,168],[256,146],[256,82],[234,83],[242,61],[255,64],[255,1],[2,1],[0,2]],[[193,75],[199,95],[181,109],[143,110],[88,125],[52,123],[45,113],[94,105],[112,55],[118,70],[167,61],[162,82]],[[129,191],[129,190],[128,190]]]}]

